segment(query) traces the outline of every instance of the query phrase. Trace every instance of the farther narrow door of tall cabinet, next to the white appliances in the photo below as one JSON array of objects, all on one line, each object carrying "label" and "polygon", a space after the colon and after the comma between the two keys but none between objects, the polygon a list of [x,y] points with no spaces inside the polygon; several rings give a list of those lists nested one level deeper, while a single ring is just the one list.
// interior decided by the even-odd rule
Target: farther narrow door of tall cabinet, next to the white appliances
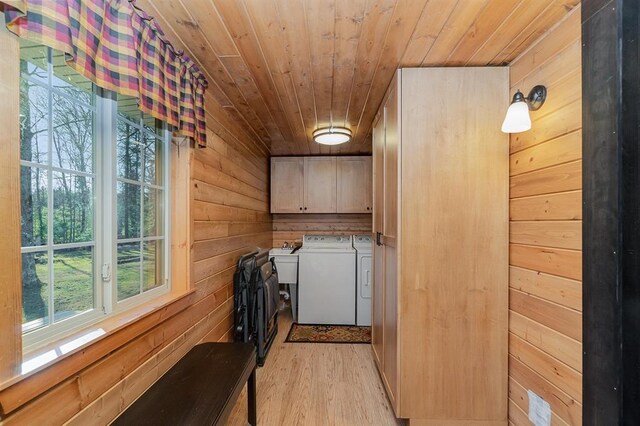
[{"label": "farther narrow door of tall cabinet, next to the white appliances", "polygon": [[[373,235],[382,234],[384,208],[384,108],[373,127]],[[371,299],[371,345],[384,371],[384,246],[373,245],[373,294]]]}]

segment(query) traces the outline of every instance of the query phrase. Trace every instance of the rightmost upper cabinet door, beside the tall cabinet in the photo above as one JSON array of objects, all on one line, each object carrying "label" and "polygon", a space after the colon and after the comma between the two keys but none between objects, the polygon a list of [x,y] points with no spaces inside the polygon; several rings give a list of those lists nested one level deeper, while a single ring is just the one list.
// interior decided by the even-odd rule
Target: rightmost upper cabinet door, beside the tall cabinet
[{"label": "rightmost upper cabinet door, beside the tall cabinet", "polygon": [[371,157],[338,157],[338,213],[371,213]]}]

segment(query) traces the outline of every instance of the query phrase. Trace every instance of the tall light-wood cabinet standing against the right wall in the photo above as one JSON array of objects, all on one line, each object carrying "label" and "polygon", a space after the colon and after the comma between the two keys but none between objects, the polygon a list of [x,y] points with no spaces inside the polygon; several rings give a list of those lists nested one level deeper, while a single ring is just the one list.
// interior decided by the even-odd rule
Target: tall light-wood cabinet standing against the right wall
[{"label": "tall light-wood cabinet standing against the right wall", "polygon": [[401,69],[374,123],[372,348],[410,424],[507,422],[508,82]]}]

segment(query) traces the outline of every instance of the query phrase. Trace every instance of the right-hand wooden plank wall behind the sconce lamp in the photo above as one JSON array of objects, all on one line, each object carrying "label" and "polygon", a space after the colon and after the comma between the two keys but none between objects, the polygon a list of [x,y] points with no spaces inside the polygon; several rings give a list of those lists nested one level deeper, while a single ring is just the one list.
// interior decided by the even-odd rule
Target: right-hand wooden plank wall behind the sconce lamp
[{"label": "right-hand wooden plank wall behind the sconce lamp", "polygon": [[511,63],[511,93],[548,89],[532,129],[511,135],[509,420],[527,390],[553,425],[582,424],[580,7]]}]

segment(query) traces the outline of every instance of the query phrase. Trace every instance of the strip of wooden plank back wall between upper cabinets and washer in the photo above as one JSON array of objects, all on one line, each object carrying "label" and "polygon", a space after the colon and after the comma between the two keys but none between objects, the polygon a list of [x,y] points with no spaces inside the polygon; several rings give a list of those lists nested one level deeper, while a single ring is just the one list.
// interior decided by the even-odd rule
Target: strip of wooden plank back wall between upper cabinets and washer
[{"label": "strip of wooden plank back wall between upper cabinets and washer", "polygon": [[371,214],[274,214],[273,245],[302,242],[304,234],[353,235],[371,233]]}]

